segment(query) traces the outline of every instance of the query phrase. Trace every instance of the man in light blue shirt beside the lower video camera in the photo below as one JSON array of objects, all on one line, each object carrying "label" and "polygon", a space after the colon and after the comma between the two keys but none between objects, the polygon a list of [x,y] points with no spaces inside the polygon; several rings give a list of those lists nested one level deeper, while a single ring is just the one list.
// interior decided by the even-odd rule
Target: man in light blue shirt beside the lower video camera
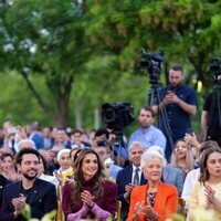
[{"label": "man in light blue shirt beside the lower video camera", "polygon": [[139,109],[138,123],[140,127],[130,135],[128,146],[133,141],[139,141],[145,149],[151,146],[159,146],[165,151],[166,138],[162,131],[152,125],[154,112],[150,107],[144,106]]}]

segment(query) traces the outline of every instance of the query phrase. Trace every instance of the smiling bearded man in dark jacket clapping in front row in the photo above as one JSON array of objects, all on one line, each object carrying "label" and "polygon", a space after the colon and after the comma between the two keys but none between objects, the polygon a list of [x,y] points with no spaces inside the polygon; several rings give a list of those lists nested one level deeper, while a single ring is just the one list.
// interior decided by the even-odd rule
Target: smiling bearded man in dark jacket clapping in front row
[{"label": "smiling bearded man in dark jacket clapping in front row", "polygon": [[38,219],[52,210],[56,210],[55,186],[36,178],[40,164],[38,150],[32,148],[21,149],[15,161],[22,177],[20,181],[4,188],[0,220],[25,220],[21,211],[27,204],[31,208],[31,217]]}]

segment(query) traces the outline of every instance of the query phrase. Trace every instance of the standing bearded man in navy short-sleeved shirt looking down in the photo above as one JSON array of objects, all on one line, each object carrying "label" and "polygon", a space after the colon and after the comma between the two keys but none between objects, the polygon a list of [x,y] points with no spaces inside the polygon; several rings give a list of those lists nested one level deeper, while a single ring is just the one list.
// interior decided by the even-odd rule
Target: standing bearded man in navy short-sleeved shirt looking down
[{"label": "standing bearded man in navy short-sleeved shirt looking down", "polygon": [[[172,147],[169,137],[175,143],[191,131],[190,116],[197,113],[196,91],[183,84],[183,70],[180,65],[173,65],[169,70],[169,84],[160,91],[161,101],[156,101],[152,109],[155,114],[160,114],[159,128],[167,137],[166,157],[170,159]],[[166,129],[162,110],[166,110],[169,131]],[[165,115],[164,115],[165,116]]]}]

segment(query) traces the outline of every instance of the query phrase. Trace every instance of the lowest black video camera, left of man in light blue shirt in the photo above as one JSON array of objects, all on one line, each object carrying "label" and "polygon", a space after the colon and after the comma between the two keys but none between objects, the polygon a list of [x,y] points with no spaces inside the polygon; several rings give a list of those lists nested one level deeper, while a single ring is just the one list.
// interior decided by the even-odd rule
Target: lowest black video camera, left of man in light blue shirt
[{"label": "lowest black video camera, left of man in light blue shirt", "polygon": [[102,119],[113,133],[120,133],[134,122],[134,107],[128,102],[102,105]]}]

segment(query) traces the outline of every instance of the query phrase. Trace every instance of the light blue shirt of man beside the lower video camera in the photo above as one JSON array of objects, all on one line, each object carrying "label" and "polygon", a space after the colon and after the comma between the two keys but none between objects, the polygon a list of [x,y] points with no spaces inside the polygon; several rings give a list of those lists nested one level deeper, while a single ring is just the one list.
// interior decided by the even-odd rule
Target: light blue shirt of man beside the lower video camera
[{"label": "light blue shirt of man beside the lower video camera", "polygon": [[138,128],[129,137],[128,146],[133,141],[140,141],[145,148],[150,146],[159,146],[164,149],[166,148],[166,138],[161,130],[155,126],[150,126],[147,129]]}]

